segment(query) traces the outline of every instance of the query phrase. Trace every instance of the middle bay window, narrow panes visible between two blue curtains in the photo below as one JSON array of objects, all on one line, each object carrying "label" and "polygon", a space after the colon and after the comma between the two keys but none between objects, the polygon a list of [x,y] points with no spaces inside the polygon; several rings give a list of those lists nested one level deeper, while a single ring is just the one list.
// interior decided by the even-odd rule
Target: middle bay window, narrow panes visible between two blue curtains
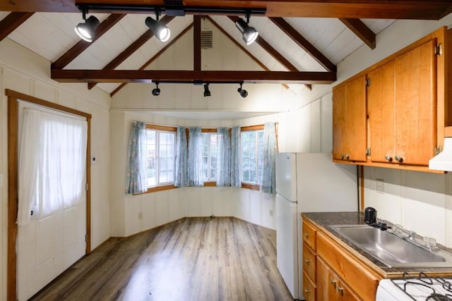
[{"label": "middle bay window, narrow panes visible between two blue curtains", "polygon": [[202,133],[202,137],[203,180],[204,182],[213,182],[217,180],[220,134]]}]

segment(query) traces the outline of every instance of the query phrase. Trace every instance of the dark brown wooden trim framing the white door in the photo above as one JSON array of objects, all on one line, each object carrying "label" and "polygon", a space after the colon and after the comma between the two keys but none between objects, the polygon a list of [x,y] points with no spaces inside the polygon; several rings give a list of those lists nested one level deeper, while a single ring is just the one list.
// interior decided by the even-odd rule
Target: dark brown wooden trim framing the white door
[{"label": "dark brown wooden trim framing the white door", "polygon": [[63,111],[86,118],[88,123],[88,141],[86,143],[86,249],[91,252],[91,114],[67,106],[47,102],[46,100],[22,94],[13,90],[5,90],[8,97],[8,247],[7,247],[7,298],[16,301],[17,292],[17,233],[18,211],[18,100],[38,104],[49,109]]}]

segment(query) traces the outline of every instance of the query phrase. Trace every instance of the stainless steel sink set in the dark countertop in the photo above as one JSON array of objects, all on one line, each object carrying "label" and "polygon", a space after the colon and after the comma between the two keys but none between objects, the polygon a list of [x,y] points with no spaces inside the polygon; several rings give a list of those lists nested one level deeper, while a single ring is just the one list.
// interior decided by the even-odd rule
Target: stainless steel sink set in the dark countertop
[{"label": "stainless steel sink set in the dark countertop", "polygon": [[424,249],[388,231],[368,225],[331,228],[390,267],[452,267],[452,254]]}]

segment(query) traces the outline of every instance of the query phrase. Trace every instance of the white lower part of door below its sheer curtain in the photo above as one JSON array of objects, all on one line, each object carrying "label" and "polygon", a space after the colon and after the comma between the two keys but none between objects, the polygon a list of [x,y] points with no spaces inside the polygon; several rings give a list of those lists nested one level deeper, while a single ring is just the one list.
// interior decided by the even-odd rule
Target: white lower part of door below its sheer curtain
[{"label": "white lower part of door below its sheer curtain", "polygon": [[[20,103],[20,112],[23,106],[30,104]],[[21,119],[19,113],[19,125]],[[28,300],[85,254],[86,194],[82,196],[73,207],[32,215],[28,225],[18,226],[18,300]]]}]

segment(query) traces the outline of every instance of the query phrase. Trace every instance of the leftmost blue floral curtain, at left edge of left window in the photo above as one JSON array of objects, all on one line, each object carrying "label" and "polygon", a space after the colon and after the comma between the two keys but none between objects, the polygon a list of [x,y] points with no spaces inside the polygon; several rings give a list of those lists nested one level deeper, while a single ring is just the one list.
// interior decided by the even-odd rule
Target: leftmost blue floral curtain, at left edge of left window
[{"label": "leftmost blue floral curtain, at left edge of left window", "polygon": [[148,190],[146,183],[146,124],[133,121],[129,140],[126,178],[126,194],[142,193]]}]

